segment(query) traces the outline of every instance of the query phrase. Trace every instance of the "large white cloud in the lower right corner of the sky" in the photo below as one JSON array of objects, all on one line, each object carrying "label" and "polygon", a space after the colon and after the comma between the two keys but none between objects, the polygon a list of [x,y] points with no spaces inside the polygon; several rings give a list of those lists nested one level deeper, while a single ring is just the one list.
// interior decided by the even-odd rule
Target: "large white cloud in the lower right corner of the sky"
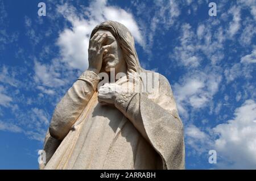
[{"label": "large white cloud in the lower right corner of the sky", "polygon": [[[256,103],[246,102],[234,112],[234,119],[213,128],[217,154],[229,168],[256,169]],[[223,163],[221,163],[221,166]],[[231,167],[230,167],[231,166]]]}]

